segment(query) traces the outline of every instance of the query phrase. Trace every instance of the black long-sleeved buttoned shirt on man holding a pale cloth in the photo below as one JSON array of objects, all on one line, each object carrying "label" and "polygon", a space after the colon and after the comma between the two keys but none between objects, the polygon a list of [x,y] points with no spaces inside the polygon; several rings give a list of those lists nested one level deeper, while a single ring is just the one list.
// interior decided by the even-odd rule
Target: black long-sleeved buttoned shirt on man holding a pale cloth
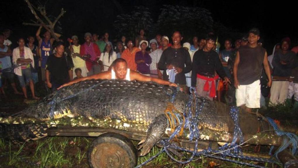
[{"label": "black long-sleeved buttoned shirt on man holding a pale cloth", "polygon": [[169,75],[167,75],[167,65],[172,64],[175,67],[180,67],[182,69],[181,73],[176,74],[175,83],[176,84],[186,84],[185,73],[191,70],[191,58],[190,54],[183,47],[175,49],[168,47],[162,52],[162,56],[158,62],[158,68],[164,70],[163,78],[164,80],[169,80]]}]

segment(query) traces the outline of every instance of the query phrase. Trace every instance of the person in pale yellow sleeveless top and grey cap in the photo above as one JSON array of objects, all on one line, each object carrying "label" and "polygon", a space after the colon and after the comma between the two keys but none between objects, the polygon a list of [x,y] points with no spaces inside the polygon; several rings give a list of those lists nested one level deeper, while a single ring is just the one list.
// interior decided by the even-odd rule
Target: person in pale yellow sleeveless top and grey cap
[{"label": "person in pale yellow sleeveless top and grey cap", "polygon": [[74,64],[74,67],[72,68],[72,76],[73,78],[77,77],[75,73],[75,69],[80,68],[81,69],[81,75],[83,77],[87,76],[88,70],[86,67],[86,61],[83,60],[83,58],[80,57],[80,47],[79,40],[77,36],[72,36],[72,42],[69,41],[69,51],[72,58],[72,62]]}]

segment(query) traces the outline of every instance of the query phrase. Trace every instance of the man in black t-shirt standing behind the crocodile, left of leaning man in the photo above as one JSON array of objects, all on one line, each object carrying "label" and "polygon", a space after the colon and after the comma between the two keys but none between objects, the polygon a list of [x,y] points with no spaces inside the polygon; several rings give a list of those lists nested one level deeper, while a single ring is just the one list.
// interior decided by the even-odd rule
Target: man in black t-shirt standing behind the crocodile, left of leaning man
[{"label": "man in black t-shirt standing behind the crocodile, left of leaning man", "polygon": [[46,62],[46,84],[52,91],[72,79],[72,59],[64,55],[64,44],[59,41],[55,47],[56,53],[49,56]]}]

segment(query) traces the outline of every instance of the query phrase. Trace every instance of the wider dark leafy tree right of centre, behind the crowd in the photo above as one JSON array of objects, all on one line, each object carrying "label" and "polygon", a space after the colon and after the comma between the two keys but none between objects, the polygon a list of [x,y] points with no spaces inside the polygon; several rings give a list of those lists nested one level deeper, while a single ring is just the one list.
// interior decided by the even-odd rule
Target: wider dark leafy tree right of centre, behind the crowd
[{"label": "wider dark leafy tree right of centre, behind the crowd", "polygon": [[163,5],[161,11],[156,30],[164,35],[180,30],[184,37],[191,37],[194,34],[206,34],[213,28],[211,13],[204,8]]}]

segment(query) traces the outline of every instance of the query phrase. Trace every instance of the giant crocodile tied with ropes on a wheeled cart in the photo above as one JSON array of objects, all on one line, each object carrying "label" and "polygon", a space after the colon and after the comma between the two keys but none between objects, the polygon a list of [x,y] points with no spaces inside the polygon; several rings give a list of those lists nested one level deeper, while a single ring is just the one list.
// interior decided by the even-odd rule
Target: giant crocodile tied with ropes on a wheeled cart
[{"label": "giant crocodile tied with ropes on a wheeled cart", "polygon": [[[48,127],[59,124],[114,128],[147,133],[140,152],[146,155],[168,127],[164,111],[175,89],[154,82],[80,81],[49,94],[37,105],[14,116],[0,118],[0,136],[14,141],[37,140],[46,136]],[[198,97],[199,103],[203,99]],[[183,112],[187,100],[187,95],[179,91],[173,105]],[[257,116],[240,112],[239,120],[244,134],[257,132]],[[217,102],[205,100],[198,121],[200,128],[219,132],[234,129],[229,108]],[[262,123],[263,129],[268,127]]]}]

